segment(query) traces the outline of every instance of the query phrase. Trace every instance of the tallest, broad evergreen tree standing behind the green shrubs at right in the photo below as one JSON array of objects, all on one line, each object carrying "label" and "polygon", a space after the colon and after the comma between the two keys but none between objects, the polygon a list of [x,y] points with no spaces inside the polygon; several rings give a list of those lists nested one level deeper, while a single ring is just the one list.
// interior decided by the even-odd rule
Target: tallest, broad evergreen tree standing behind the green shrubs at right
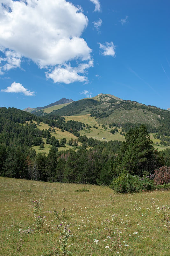
[{"label": "tallest, broad evergreen tree standing behind the green shrubs at right", "polygon": [[123,170],[132,175],[148,174],[155,167],[155,150],[149,138],[147,127],[130,129],[122,143],[118,157],[113,165],[113,175]]}]

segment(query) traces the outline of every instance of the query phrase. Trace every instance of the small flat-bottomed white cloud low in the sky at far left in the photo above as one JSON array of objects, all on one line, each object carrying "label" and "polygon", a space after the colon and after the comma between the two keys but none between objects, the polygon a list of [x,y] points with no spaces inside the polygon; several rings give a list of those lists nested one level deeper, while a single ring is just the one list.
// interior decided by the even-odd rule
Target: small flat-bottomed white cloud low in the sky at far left
[{"label": "small flat-bottomed white cloud low in the sky at far left", "polygon": [[2,89],[1,92],[22,92],[26,96],[33,96],[34,92],[28,91],[22,84],[13,82],[11,86],[8,86],[6,89]]}]

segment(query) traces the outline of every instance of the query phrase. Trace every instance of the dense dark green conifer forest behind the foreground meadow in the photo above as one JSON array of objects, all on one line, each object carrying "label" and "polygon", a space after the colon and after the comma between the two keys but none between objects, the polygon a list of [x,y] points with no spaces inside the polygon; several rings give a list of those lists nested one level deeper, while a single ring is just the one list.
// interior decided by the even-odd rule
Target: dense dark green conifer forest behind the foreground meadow
[{"label": "dense dark green conifer forest behind the foreground meadow", "polygon": [[[144,124],[131,128],[124,142],[100,141],[84,135],[78,137],[81,146],[77,151],[69,149],[59,152],[58,147],[65,145],[66,140],[63,138],[59,143],[48,130],[39,130],[38,125],[31,121],[31,117],[37,117],[16,109],[9,109],[9,112],[4,108],[1,110],[0,175],[4,177],[110,185],[112,180],[124,173],[148,175],[161,166],[170,166],[170,149],[162,152],[155,150]],[[23,114],[22,118],[19,113]],[[30,122],[14,122],[21,119]],[[38,117],[37,122],[40,120]],[[58,120],[67,124],[62,118]],[[81,122],[70,122],[67,129],[73,131],[83,126]],[[52,145],[47,156],[36,154],[30,148],[43,144],[43,138]]]}]

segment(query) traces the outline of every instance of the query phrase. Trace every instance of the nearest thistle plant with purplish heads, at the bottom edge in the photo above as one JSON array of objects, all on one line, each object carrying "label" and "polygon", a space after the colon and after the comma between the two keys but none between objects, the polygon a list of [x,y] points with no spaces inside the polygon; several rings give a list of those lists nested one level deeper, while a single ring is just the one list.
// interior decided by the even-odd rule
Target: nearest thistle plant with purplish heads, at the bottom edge
[{"label": "nearest thistle plant with purplish heads, at the bottom edge", "polygon": [[69,229],[70,225],[67,224],[64,226],[64,228],[62,227],[62,224],[57,225],[57,230],[59,230],[60,232],[60,237],[59,237],[59,242],[60,242],[60,246],[58,246],[60,252],[62,253],[62,255],[66,256],[73,256],[73,252],[68,251],[67,250],[67,245],[68,245],[68,240],[70,238],[70,232],[71,230]]}]

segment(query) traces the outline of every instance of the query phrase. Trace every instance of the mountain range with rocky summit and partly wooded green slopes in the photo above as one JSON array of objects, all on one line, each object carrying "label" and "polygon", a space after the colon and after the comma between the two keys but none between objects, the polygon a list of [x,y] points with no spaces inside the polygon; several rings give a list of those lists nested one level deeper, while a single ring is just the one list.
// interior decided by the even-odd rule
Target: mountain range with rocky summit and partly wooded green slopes
[{"label": "mountain range with rocky summit and partly wooded green slopes", "polygon": [[[127,126],[127,129],[134,127],[134,125],[147,124],[150,132],[157,133],[155,136],[160,138],[162,134],[162,140],[170,134],[170,111],[165,109],[151,105],[146,106],[136,101],[123,100],[114,95],[103,93],[93,98],[70,101],[72,100],[63,98],[32,111],[27,108],[27,111],[36,116],[50,119],[56,119],[57,116],[70,116],[69,120],[76,120],[85,124],[89,123],[89,120],[95,119],[98,125],[119,128]],[[68,103],[55,105],[62,102]],[[169,138],[166,140],[170,141]]]}]

